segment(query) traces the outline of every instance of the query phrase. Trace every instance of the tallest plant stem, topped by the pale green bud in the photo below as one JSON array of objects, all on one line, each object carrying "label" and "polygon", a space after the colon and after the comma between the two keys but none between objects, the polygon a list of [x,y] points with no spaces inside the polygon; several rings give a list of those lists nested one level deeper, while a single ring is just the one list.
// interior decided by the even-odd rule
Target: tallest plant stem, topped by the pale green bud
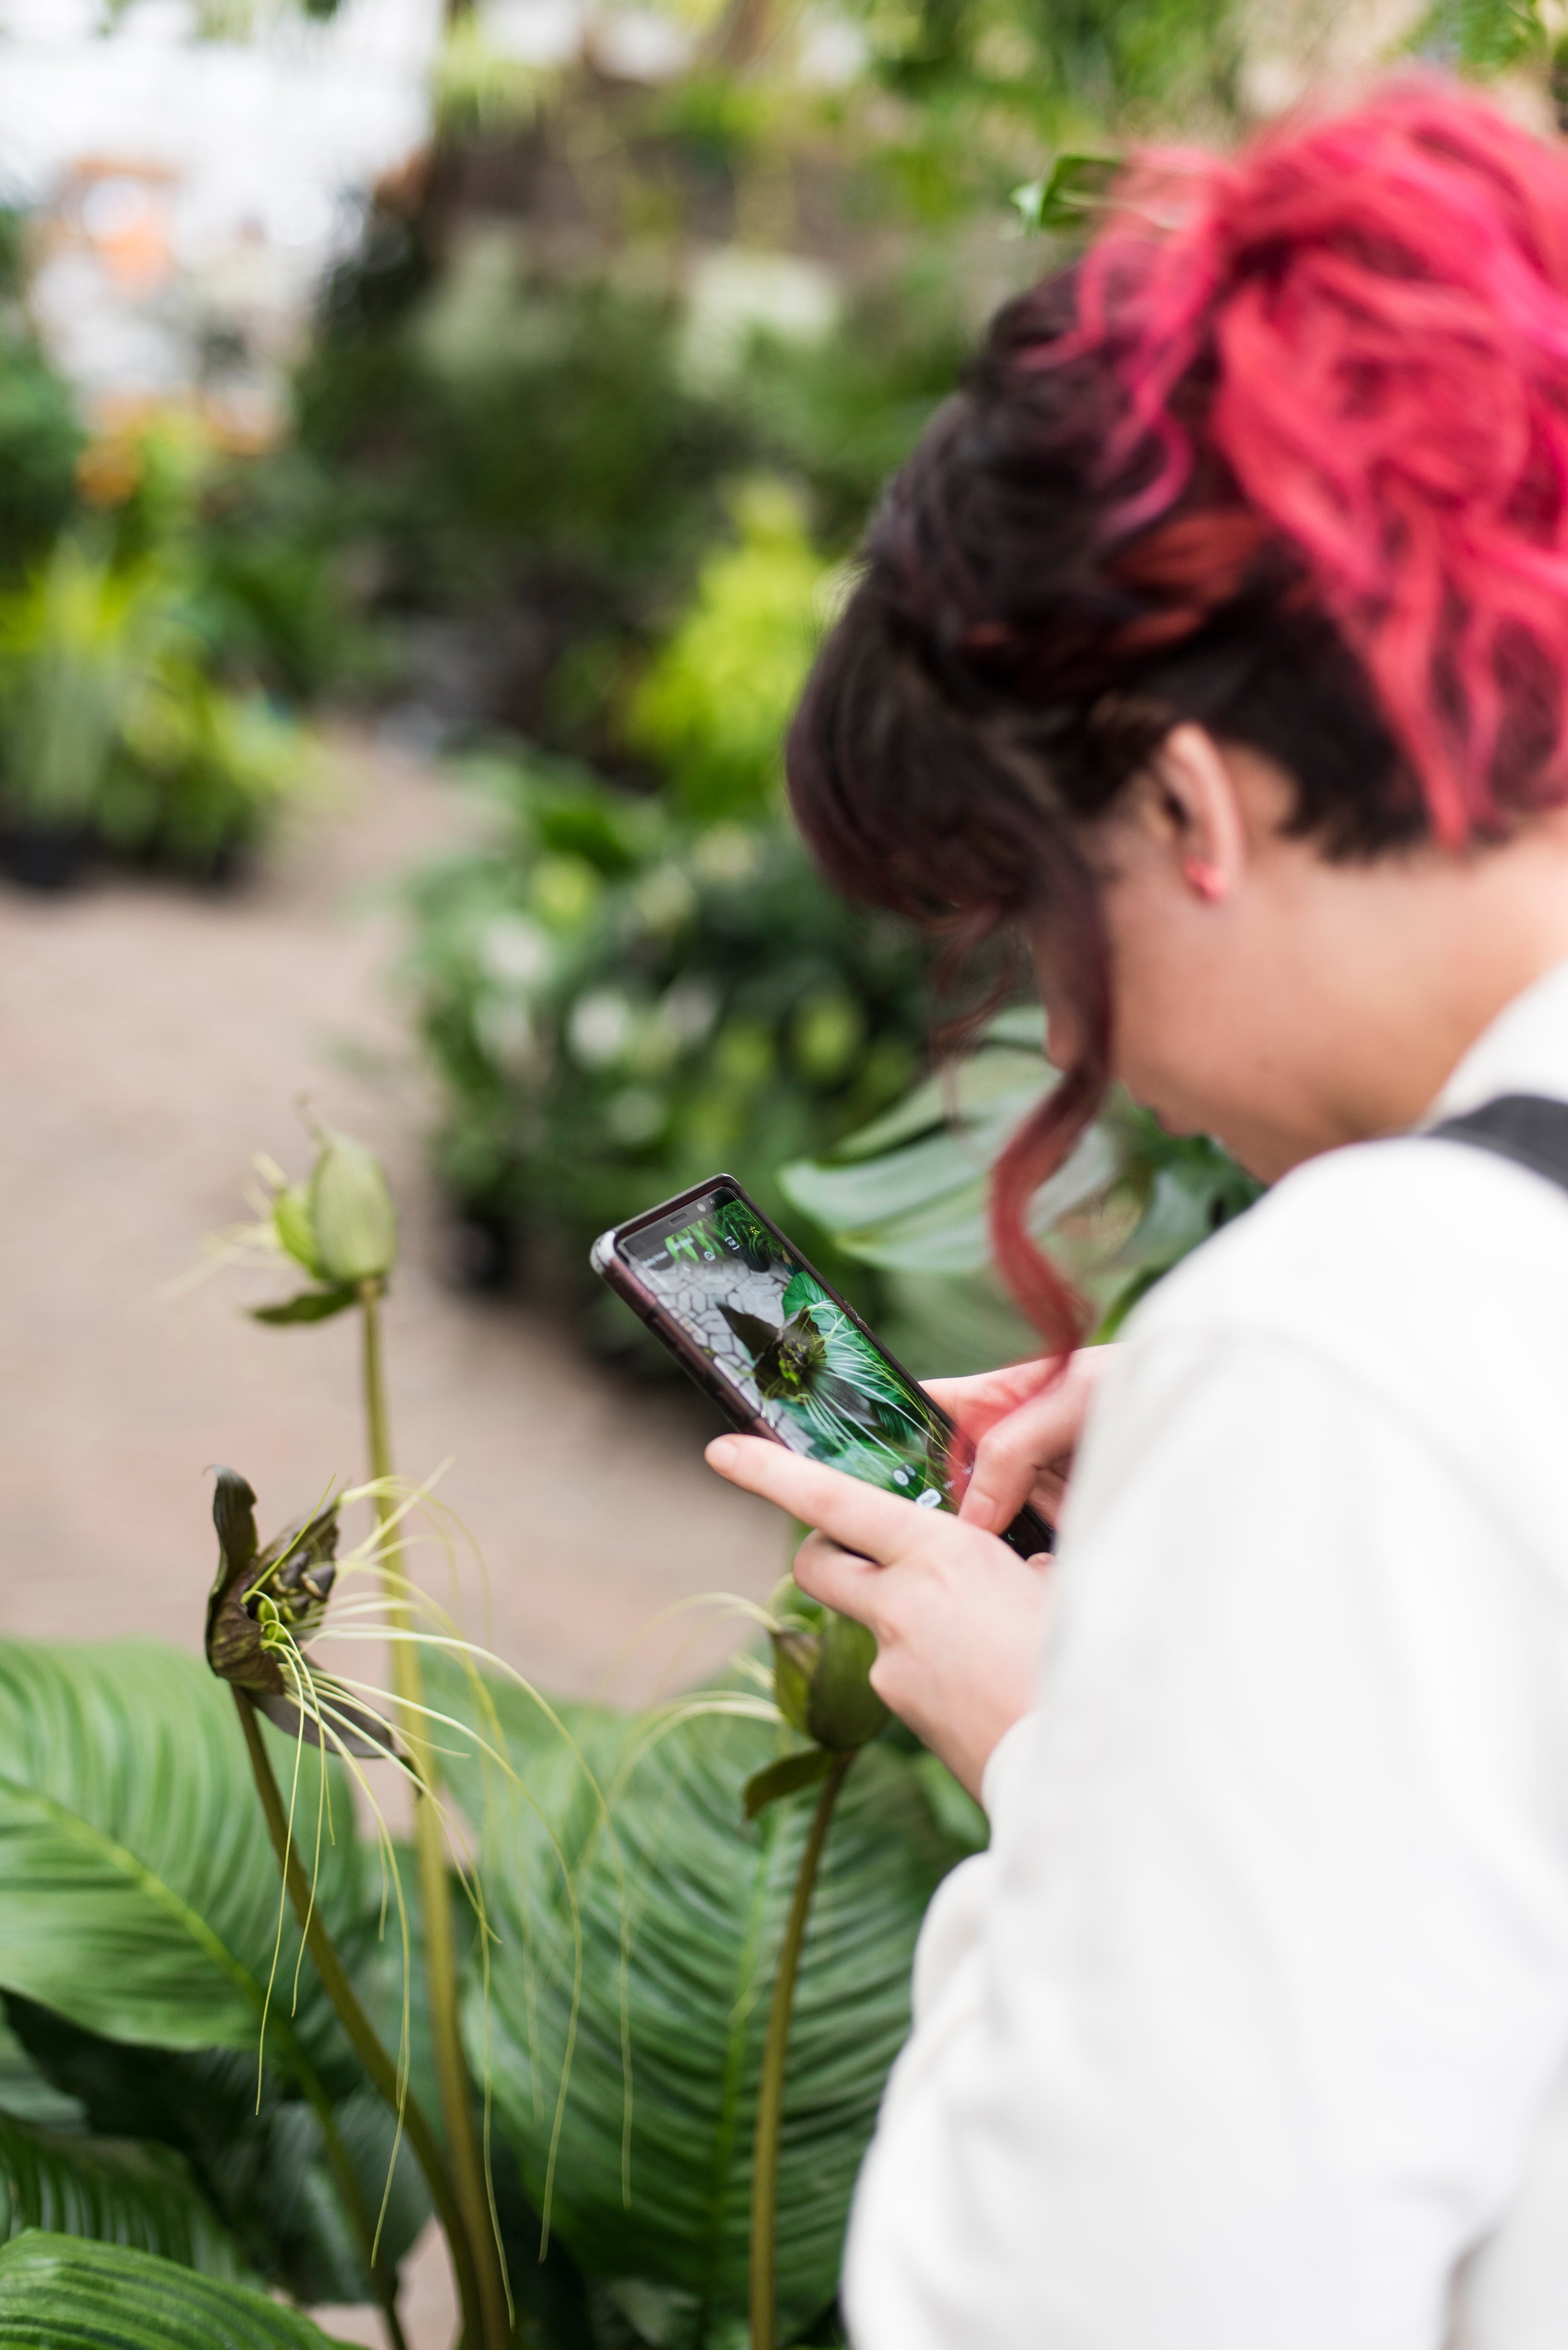
[{"label": "tallest plant stem, topped by the pale green bud", "polygon": [[[395,1511],[388,1480],[393,1476],[393,1438],[386,1410],[386,1377],[381,1363],[381,1288],[374,1281],[360,1285],[360,1316],[364,1323],[364,1422],[369,1431],[369,1464],[378,1483],[376,1518],[386,1528]],[[414,1856],[418,1864],[418,1906],[425,1927],[425,1983],[430,1995],[430,2044],[435,2054],[435,2077],[442,2096],[442,2124],[447,2129],[447,2153],[451,2157],[451,2183],[468,2237],[468,2254],[480,2296],[480,2326],[468,2329],[468,2350],[508,2350],[512,2319],[508,2310],[505,2277],[501,2272],[501,2247],[489,2207],[489,2186],[480,2160],[480,2143],[473,2127],[473,2099],[468,2089],[468,2063],[463,2059],[463,2033],[458,2026],[458,1967],[451,1936],[451,1885],[447,1878],[447,1845],[440,1812],[425,1788],[435,1786],[435,1758],[425,1713],[421,1711],[423,1673],[418,1647],[411,1638],[414,1622],[402,1596],[402,1544],[388,1539],[381,1553],[386,1589],[386,1612],[393,1631],[393,1687],[397,1690],[397,1730],[409,1753],[421,1793],[414,1795]]]}]

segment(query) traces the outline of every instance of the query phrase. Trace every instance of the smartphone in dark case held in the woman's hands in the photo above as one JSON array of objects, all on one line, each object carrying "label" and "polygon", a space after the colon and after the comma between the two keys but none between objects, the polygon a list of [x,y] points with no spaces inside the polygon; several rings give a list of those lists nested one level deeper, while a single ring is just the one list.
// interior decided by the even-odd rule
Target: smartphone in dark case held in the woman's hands
[{"label": "smartphone in dark case held in the woman's hands", "polygon": [[[733,1175],[604,1231],[592,1267],[745,1436],[957,1511],[954,1422]],[[1032,1509],[1004,1539],[1025,1558],[1056,1542]]]}]

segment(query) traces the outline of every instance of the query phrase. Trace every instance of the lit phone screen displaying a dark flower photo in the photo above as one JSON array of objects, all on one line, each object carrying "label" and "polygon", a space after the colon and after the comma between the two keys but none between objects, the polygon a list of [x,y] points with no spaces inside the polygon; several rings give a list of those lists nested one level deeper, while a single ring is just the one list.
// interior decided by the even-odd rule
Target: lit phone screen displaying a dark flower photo
[{"label": "lit phone screen displaying a dark flower photo", "polygon": [[717,1187],[618,1246],[792,1452],[924,1509],[957,1509],[950,1424],[745,1198]]}]

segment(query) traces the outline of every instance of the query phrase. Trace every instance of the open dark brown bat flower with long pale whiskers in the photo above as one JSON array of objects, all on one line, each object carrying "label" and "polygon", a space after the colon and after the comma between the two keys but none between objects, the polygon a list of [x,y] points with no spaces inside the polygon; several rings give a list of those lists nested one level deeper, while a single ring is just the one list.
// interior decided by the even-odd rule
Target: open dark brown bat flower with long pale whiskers
[{"label": "open dark brown bat flower with long pale whiskers", "polygon": [[[216,1471],[212,1523],[219,1572],[207,1596],[207,1664],[233,1683],[270,1723],[308,1746],[355,1755],[393,1753],[393,1737],[331,1673],[306,1657],[336,1582],[339,1504],[299,1518],[266,1549],[256,1539],[256,1495],[235,1469]],[[301,1704],[303,1697],[303,1704]]]}]

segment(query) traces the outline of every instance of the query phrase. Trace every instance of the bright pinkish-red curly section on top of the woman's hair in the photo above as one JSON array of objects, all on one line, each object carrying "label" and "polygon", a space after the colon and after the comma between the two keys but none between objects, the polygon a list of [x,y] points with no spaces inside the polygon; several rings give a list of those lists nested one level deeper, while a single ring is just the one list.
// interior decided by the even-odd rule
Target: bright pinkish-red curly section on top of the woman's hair
[{"label": "bright pinkish-red curly section on top of the woman's hair", "polygon": [[[1505,712],[1521,689],[1552,752],[1523,804],[1559,794],[1561,150],[1427,80],[1234,160],[1152,150],[1086,258],[1079,336],[1114,352],[1128,400],[1107,458],[1143,437],[1161,449],[1119,526],[1171,512],[1206,442],[1361,660],[1441,841],[1519,811]],[[1213,392],[1190,423],[1194,371]],[[1213,536],[1192,555],[1201,609],[1227,559]]]}]

